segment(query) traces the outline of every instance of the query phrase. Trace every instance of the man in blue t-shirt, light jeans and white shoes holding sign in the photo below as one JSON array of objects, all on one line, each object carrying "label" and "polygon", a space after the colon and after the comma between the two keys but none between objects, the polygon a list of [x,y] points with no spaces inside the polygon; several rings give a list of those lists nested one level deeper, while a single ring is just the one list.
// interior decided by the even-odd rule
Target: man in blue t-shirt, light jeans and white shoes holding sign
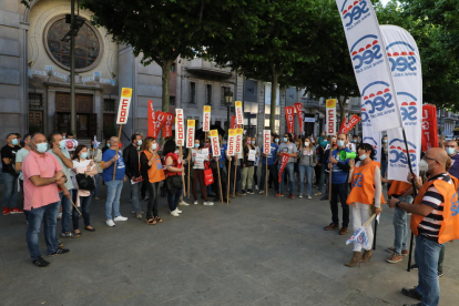
[{"label": "man in blue t-shirt, light jeans and white shoes holding sign", "polygon": [[[105,220],[106,225],[115,226],[115,222],[126,221],[120,213],[120,196],[123,190],[123,182],[126,181],[124,160],[119,149],[118,137],[110,139],[110,147],[102,154],[101,167],[103,170],[102,178],[106,185],[106,201],[105,201]],[[116,163],[116,172],[114,173],[114,164]],[[114,174],[114,177],[113,177]],[[112,214],[113,211],[113,214]]]}]

